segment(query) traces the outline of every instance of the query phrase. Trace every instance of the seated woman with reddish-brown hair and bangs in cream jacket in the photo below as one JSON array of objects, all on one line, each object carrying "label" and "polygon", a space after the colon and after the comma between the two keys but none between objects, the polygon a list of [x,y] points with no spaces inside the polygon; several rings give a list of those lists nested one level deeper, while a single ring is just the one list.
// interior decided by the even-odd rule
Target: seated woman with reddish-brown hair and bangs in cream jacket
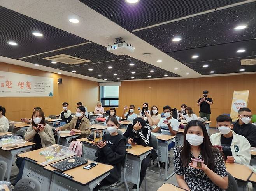
[{"label": "seated woman with reddish-brown hair and bangs in cream jacket", "polygon": [[[35,110],[32,114],[32,119],[32,124],[28,127],[24,135],[25,141],[32,141],[35,143],[35,146],[32,148],[32,150],[37,150],[55,144],[52,127],[46,124],[44,112],[40,109]],[[43,124],[44,127],[38,127],[39,124]],[[15,163],[19,168],[19,173],[14,182],[14,185],[22,177],[25,160],[23,160],[23,158],[17,158]]]}]

